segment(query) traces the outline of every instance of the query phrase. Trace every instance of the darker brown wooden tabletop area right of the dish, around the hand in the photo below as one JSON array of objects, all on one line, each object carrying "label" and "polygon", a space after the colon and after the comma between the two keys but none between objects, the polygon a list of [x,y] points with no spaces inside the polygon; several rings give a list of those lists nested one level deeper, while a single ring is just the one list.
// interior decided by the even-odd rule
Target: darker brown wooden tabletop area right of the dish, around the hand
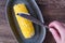
[{"label": "darker brown wooden tabletop area right of the dish, around the hand", "polygon": [[[65,0],[37,0],[37,3],[47,25],[53,20],[65,23]],[[49,30],[44,43],[55,43]]]}]

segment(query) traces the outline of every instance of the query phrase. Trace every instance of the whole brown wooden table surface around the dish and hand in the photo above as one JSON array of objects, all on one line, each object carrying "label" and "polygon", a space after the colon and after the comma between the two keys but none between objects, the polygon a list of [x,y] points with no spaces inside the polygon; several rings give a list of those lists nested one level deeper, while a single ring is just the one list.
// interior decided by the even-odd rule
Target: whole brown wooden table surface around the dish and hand
[{"label": "whole brown wooden table surface around the dish and hand", "polygon": [[[0,0],[0,43],[17,43],[5,18],[5,3],[6,0]],[[47,25],[53,20],[65,23],[64,0],[37,0],[37,3],[42,12]],[[55,43],[49,30],[47,30],[44,43]]]}]

